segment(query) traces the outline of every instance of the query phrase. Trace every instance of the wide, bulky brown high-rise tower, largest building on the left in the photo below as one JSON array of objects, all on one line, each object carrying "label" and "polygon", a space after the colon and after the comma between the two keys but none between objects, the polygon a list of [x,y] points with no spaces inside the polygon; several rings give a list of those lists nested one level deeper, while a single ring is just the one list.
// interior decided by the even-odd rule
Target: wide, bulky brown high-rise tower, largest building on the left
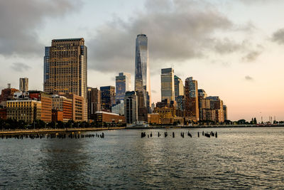
[{"label": "wide, bulky brown high-rise tower, largest building on the left", "polygon": [[74,93],[87,99],[84,38],[56,39],[45,47],[43,82],[47,93]]}]

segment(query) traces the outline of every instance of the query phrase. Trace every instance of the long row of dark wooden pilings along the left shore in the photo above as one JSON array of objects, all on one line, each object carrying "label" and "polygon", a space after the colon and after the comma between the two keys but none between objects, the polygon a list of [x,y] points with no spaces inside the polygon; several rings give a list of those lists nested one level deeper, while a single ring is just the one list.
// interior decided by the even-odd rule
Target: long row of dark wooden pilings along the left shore
[{"label": "long row of dark wooden pilings along the left shore", "polygon": [[104,132],[102,134],[80,134],[80,133],[75,133],[72,132],[70,134],[67,133],[50,133],[50,134],[2,134],[0,136],[0,139],[65,139],[65,138],[70,138],[70,139],[80,139],[80,138],[104,138]]}]

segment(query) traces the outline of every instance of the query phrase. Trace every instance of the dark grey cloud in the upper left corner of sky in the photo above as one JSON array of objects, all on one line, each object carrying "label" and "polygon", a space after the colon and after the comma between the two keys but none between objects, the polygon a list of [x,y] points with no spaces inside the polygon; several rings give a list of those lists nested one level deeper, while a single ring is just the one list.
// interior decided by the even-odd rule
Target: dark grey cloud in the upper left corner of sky
[{"label": "dark grey cloud in the upper left corner of sky", "polygon": [[75,7],[67,0],[0,1],[0,55],[42,54],[44,46],[35,30],[45,19],[64,16]]}]

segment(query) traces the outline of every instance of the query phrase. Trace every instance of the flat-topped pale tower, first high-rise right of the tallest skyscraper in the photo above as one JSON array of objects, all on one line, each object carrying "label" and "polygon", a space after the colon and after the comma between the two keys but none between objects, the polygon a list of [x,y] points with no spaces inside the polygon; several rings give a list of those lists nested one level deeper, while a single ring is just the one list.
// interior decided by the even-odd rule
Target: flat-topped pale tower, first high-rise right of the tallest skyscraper
[{"label": "flat-topped pale tower, first high-rise right of the tallest skyscraper", "polygon": [[161,100],[175,100],[175,80],[173,68],[162,68],[160,75]]}]

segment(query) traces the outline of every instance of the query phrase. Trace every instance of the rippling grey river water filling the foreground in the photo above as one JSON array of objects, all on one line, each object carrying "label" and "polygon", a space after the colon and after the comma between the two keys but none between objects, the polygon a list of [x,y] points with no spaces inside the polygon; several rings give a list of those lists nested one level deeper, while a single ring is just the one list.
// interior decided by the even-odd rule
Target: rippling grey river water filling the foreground
[{"label": "rippling grey river water filling the foreground", "polygon": [[[218,138],[197,137],[202,131]],[[0,139],[0,189],[284,189],[284,127],[104,136]]]}]

